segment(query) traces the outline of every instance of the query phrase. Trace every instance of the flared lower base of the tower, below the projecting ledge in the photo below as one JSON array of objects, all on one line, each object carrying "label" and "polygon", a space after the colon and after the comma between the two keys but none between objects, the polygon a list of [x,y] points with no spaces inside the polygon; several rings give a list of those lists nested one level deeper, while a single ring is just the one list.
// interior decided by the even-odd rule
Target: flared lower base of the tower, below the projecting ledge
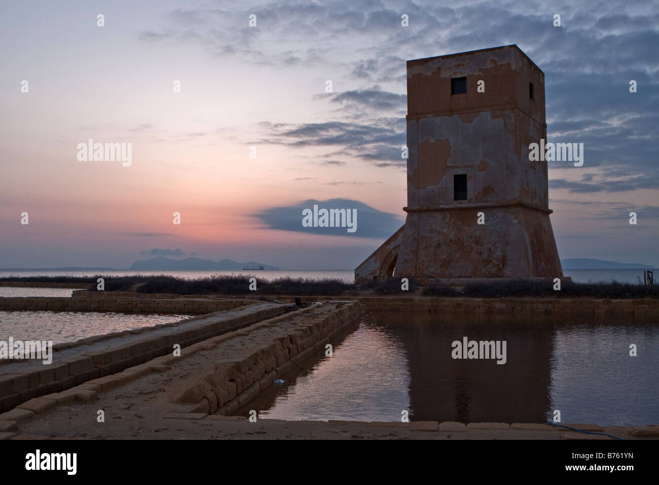
[{"label": "flared lower base of the tower, below the projecting ledge", "polygon": [[400,248],[401,277],[563,276],[548,215],[524,207],[410,212]]}]

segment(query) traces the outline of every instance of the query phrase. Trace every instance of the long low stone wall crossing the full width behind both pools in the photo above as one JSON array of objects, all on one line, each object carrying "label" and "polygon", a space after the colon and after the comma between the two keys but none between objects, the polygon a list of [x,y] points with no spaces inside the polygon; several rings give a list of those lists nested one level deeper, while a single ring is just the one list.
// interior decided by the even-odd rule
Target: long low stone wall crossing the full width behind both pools
[{"label": "long low stone wall crossing the full width behind both pools", "polygon": [[[0,310],[118,311],[124,313],[182,313],[201,315],[252,304],[256,300],[293,302],[291,295],[208,296],[89,292],[74,298],[0,298]],[[548,318],[561,321],[609,319],[655,320],[659,299],[605,300],[594,298],[438,298],[413,296],[302,296],[302,302],[358,300],[368,311],[421,311],[467,317],[512,319]],[[248,303],[247,303],[248,302]]]}]

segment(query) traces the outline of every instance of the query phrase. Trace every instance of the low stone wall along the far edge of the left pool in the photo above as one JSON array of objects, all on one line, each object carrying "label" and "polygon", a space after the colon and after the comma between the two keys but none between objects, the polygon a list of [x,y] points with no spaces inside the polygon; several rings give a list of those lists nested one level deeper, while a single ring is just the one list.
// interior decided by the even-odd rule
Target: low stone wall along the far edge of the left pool
[{"label": "low stone wall along the far edge of the left pool", "polygon": [[[102,292],[99,292],[102,294]],[[90,294],[94,294],[91,293]],[[202,315],[251,305],[254,300],[210,298],[132,298],[105,295],[105,298],[0,298],[0,310],[26,311],[115,311],[118,313],[179,313]]]}]

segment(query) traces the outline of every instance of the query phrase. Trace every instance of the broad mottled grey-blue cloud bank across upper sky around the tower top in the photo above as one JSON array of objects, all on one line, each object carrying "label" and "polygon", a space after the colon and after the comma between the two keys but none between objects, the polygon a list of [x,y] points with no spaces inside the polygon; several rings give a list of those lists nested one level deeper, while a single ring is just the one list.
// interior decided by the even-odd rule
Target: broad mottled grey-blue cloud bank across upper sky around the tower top
[{"label": "broad mottled grey-blue cloud bank across upper sky around the tower top", "polygon": [[[559,28],[554,10],[561,13]],[[246,26],[250,13],[258,28]],[[409,15],[409,27],[401,26],[401,13]],[[341,79],[345,90],[314,99],[341,108],[321,123],[277,120],[268,141],[332,145],[341,155],[382,168],[404,166],[395,147],[405,144],[405,94],[398,93],[406,87],[406,59],[518,44],[545,73],[548,141],[584,143],[585,166],[608,172],[601,181],[609,183],[600,190],[578,183],[571,188],[643,188],[633,178],[659,186],[659,12],[651,3],[590,0],[583,9],[558,1],[550,11],[534,2],[283,0],[230,12],[177,9],[167,20],[142,38],[191,42],[219,57],[275,69],[299,65],[335,73],[334,87]],[[631,79],[639,92],[629,92]],[[612,175],[621,168],[629,180]]]}]

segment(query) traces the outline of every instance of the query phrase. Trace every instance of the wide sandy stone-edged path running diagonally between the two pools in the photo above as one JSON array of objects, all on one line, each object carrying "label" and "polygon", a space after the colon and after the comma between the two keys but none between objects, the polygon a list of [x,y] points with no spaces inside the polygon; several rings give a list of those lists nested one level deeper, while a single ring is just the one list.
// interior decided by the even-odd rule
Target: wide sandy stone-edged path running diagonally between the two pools
[{"label": "wide sandy stone-edged path running diagonally between the two pools", "polygon": [[[269,365],[275,366],[273,370],[286,372],[293,365],[289,358],[291,354],[304,357],[326,338],[336,335],[333,331],[339,328],[346,331],[355,329],[361,313],[359,304],[354,303],[307,307],[262,319],[248,327],[190,345],[181,351],[181,356],[165,354],[123,372],[86,381],[67,391],[30,399],[0,414],[0,432],[12,433],[19,425],[22,428],[38,420],[42,430],[49,430],[52,434],[69,436],[71,430],[77,429],[80,437],[86,437],[89,435],[83,431],[84,428],[94,432],[113,428],[112,424],[96,428],[98,410],[105,412],[106,422],[110,418],[117,425],[130,422],[131,426],[136,426],[134,430],[140,430],[142,426],[148,428],[159,420],[173,419],[181,414],[194,417],[200,410],[208,414],[217,409],[217,402],[211,410],[205,395],[200,396],[198,401],[192,399],[191,402],[188,398],[191,396],[190,390],[194,390],[200,379],[214,375],[217,370],[214,364],[218,358],[223,360],[223,364],[235,363],[236,373],[229,377],[239,382],[241,387],[234,387],[235,394],[227,398],[237,405],[237,393],[240,393],[241,399],[247,399],[244,390],[252,387],[248,376],[253,379],[262,377],[255,373],[255,366],[245,366],[246,360],[262,362],[259,357],[264,357]],[[267,355],[261,352],[264,346],[279,343],[279,339],[288,342],[285,353],[283,348],[273,349],[277,352]],[[293,347],[295,352],[291,350]],[[264,373],[267,384],[272,383],[271,375],[265,375],[265,367],[258,364],[256,367]],[[181,401],[177,397],[181,395],[189,404],[177,404]],[[219,401],[219,404],[225,403]],[[80,408],[81,405],[95,409],[87,412]],[[195,412],[191,412],[190,406]],[[46,419],[45,423],[42,418]]]}]

